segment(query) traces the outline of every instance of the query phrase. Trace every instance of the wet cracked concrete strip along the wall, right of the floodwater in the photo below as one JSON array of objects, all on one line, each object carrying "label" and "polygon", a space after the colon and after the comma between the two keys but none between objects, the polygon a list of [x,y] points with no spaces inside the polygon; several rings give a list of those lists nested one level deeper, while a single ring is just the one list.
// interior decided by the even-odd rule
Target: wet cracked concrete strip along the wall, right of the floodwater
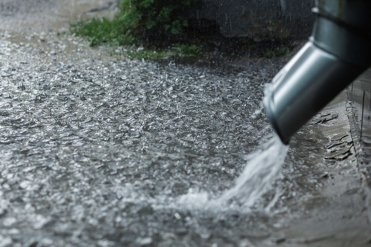
[{"label": "wet cracked concrete strip along the wall, right of the floodwater", "polygon": [[[351,105],[343,91],[313,118],[318,124],[326,113],[336,118],[319,126],[324,135],[324,160],[307,160],[318,180],[305,214],[293,220],[282,233],[288,246],[367,246],[370,244],[370,189],[367,176],[359,167],[357,133],[351,131]],[[324,148],[325,146],[325,148]],[[309,155],[311,158],[311,155]],[[313,177],[312,177],[313,179]],[[291,236],[291,237],[288,237]]]}]

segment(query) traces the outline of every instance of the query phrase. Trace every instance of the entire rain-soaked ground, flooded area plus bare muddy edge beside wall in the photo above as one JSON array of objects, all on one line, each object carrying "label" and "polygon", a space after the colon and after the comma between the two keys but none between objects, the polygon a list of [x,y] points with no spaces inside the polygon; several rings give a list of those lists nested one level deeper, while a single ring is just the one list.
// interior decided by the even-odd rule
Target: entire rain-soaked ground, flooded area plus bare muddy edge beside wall
[{"label": "entire rain-soaked ground, flooded area plus bare muddy edge beside wall", "polygon": [[260,101],[284,61],[142,61],[63,33],[104,2],[0,4],[1,247],[370,243],[344,95],[252,208],[205,207],[272,137]]}]

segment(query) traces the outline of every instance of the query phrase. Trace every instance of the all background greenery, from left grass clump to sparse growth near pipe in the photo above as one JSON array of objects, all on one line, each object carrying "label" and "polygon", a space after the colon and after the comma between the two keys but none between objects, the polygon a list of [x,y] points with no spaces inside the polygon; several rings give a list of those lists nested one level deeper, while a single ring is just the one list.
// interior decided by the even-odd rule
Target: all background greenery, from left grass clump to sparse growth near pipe
[{"label": "all background greenery, from left grass clump to sparse growth near pipe", "polygon": [[[71,24],[70,31],[99,45],[135,47],[114,56],[138,59],[205,57],[209,53],[276,58],[290,50],[288,43],[254,43],[248,38],[225,38],[217,28],[204,30],[181,16],[200,0],[122,0],[113,19],[93,18]],[[214,30],[214,31],[213,31]],[[137,49],[143,47],[143,49]],[[223,56],[224,56],[223,55]],[[232,55],[233,56],[233,55]]]}]

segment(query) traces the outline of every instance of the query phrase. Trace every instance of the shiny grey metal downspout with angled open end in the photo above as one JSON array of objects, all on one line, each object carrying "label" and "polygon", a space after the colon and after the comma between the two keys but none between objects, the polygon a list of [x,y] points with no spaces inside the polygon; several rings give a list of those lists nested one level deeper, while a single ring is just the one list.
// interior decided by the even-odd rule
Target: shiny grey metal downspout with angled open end
[{"label": "shiny grey metal downspout with angled open end", "polygon": [[312,36],[273,78],[267,115],[283,143],[371,64],[371,1],[316,1]]}]

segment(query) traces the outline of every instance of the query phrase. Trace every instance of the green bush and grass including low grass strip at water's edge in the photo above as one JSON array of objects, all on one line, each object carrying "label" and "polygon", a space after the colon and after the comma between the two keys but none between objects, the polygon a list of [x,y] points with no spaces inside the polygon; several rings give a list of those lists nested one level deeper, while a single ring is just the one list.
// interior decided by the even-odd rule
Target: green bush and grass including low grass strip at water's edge
[{"label": "green bush and grass including low grass strip at water's edge", "polygon": [[181,0],[181,4],[179,2],[174,4],[171,0],[141,0],[138,1],[138,6],[134,6],[135,1],[122,0],[120,11],[112,20],[103,17],[77,21],[70,25],[70,30],[89,40],[92,47],[104,44],[109,46],[134,44],[139,47],[146,43],[144,40],[150,40],[144,45],[143,50],[134,50],[126,54],[139,59],[200,56],[201,45],[179,42],[176,39],[188,26],[187,19],[179,15],[182,4],[183,7],[189,7],[198,2],[199,0]]}]

